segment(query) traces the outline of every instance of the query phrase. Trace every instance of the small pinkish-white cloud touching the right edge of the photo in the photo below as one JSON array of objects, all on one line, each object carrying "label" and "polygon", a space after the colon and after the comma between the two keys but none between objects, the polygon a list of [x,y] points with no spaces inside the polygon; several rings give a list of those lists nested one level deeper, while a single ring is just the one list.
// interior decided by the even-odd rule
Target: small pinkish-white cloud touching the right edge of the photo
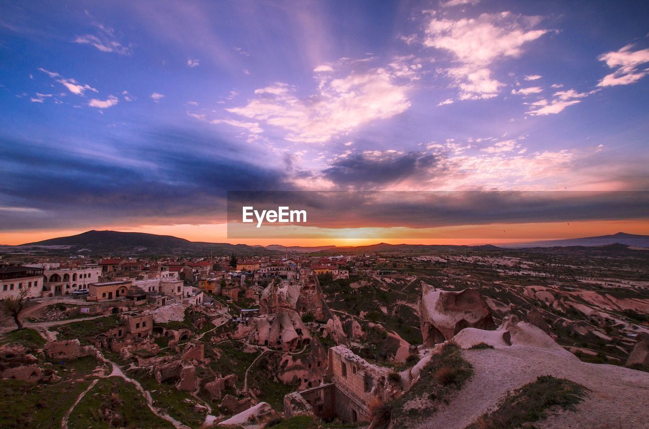
[{"label": "small pinkish-white cloud touching the right edge of the photo", "polygon": [[620,48],[618,51],[606,52],[598,60],[606,62],[613,73],[604,76],[597,86],[617,86],[635,84],[649,73],[649,68],[641,69],[641,65],[649,62],[649,48],[631,51],[633,43]]}]

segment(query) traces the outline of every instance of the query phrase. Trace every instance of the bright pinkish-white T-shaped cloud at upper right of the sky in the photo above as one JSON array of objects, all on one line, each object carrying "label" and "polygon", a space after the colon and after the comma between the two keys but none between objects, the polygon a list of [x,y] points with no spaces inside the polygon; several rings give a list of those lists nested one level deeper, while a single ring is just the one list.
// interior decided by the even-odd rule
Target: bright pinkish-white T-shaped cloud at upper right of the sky
[{"label": "bright pinkish-white T-shaped cloud at upper right of the sky", "polygon": [[424,46],[450,52],[460,65],[446,72],[459,88],[459,99],[496,97],[504,86],[491,76],[491,65],[503,58],[516,58],[523,45],[546,34],[533,29],[538,17],[515,16],[511,12],[482,14],[458,20],[432,16],[426,25]]}]

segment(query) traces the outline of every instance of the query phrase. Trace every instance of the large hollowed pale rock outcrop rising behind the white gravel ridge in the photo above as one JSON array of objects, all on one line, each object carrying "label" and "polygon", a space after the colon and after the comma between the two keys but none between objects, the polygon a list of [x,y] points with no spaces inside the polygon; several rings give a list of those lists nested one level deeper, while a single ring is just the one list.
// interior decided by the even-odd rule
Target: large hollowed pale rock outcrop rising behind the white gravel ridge
[{"label": "large hollowed pale rock outcrop rising behind the white gravel ridge", "polygon": [[424,345],[428,346],[450,340],[465,328],[495,329],[491,310],[473,288],[451,292],[424,284],[419,315]]}]

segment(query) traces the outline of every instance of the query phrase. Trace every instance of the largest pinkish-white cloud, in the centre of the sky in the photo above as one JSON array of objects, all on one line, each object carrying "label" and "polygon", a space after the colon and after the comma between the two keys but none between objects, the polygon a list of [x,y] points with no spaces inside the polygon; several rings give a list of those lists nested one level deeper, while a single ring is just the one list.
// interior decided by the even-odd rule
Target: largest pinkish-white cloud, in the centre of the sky
[{"label": "largest pinkish-white cloud, in the centre of the sky", "polygon": [[416,73],[416,66],[398,60],[389,67],[342,76],[319,75],[317,91],[306,98],[299,97],[296,87],[276,82],[256,89],[256,97],[245,106],[226,110],[280,128],[288,141],[319,143],[408,110]]}]

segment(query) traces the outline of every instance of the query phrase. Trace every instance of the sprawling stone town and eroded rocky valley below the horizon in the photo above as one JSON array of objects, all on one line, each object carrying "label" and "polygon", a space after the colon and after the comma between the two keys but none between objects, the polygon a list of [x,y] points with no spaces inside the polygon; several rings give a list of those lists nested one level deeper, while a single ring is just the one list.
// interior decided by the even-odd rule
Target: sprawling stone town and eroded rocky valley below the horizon
[{"label": "sprawling stone town and eroded rocky valley below the horizon", "polygon": [[[626,267],[613,269],[556,250],[335,251],[5,255],[0,376],[33,395],[65,389],[43,407],[69,428],[380,428],[443,421],[476,367],[458,347],[646,374],[649,280],[630,274],[644,252],[611,249]],[[101,404],[99,392],[141,406]],[[42,414],[14,422],[36,427]]]}]

